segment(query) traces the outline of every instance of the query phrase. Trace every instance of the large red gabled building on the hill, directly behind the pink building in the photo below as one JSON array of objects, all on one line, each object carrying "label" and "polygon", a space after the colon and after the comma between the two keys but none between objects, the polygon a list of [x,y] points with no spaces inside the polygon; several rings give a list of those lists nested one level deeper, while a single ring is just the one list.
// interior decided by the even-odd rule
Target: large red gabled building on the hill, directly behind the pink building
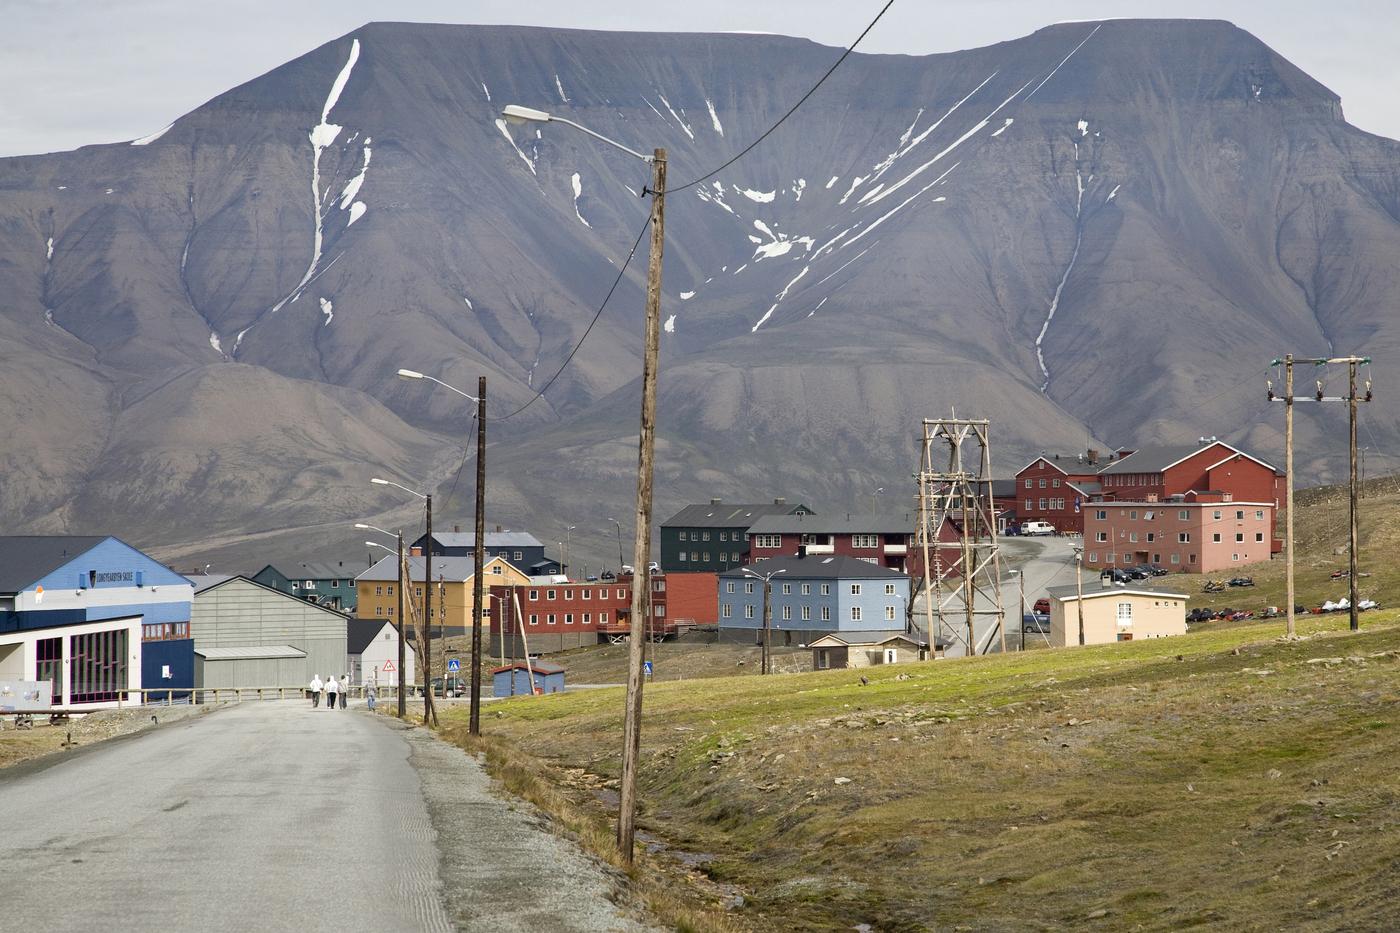
[{"label": "large red gabled building on the hill, directly behind the pink building", "polygon": [[1239,503],[1270,507],[1270,552],[1282,551],[1278,510],[1287,476],[1273,464],[1222,441],[1124,451],[1098,474],[1106,502],[1156,503],[1187,493],[1226,493]]}]

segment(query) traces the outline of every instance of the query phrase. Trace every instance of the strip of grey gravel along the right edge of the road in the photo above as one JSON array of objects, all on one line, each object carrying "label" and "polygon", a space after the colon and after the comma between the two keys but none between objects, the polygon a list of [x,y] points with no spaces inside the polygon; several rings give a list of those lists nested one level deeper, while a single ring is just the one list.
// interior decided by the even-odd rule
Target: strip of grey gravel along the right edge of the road
[{"label": "strip of grey gravel along the right edge of the road", "polygon": [[528,803],[504,797],[465,751],[403,730],[437,832],[438,874],[459,930],[641,932],[613,898],[622,878],[556,835]]}]

